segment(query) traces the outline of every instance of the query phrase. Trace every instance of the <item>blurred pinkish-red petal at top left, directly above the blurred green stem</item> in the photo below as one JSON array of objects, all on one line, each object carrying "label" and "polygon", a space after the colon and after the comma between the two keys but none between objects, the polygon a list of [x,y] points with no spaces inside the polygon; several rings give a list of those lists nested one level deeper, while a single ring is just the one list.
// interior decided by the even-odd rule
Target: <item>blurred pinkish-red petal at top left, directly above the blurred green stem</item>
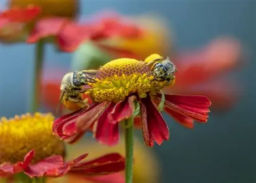
[{"label": "blurred pinkish-red petal at top left, directly above the blurred green stem", "polygon": [[57,34],[65,27],[68,20],[65,18],[43,18],[37,21],[34,29],[29,35],[27,42],[35,43],[42,38],[49,36],[57,36]]}]

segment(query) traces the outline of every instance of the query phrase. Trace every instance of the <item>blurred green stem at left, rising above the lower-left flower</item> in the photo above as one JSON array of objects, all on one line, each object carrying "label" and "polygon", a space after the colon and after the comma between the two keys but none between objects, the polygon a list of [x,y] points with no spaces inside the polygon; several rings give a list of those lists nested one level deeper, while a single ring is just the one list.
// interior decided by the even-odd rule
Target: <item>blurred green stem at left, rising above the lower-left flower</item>
[{"label": "blurred green stem at left, rising above the lower-left flower", "polygon": [[31,92],[31,112],[34,113],[38,110],[39,106],[39,83],[40,83],[40,76],[42,70],[42,64],[44,61],[44,41],[39,40],[36,44],[35,48],[35,67],[34,67],[34,74],[33,74],[33,84],[32,84],[32,92]]}]

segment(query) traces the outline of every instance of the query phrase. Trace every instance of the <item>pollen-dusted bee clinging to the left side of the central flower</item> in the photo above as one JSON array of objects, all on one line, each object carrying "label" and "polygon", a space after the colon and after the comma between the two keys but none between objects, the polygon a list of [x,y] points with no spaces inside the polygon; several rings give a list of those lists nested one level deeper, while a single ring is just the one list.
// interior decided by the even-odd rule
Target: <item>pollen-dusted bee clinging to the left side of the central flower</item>
[{"label": "pollen-dusted bee clinging to the left side of the central flower", "polygon": [[71,111],[86,107],[88,99],[82,99],[82,94],[86,92],[86,89],[82,87],[88,85],[88,83],[94,83],[95,80],[92,75],[96,73],[97,70],[81,70],[65,74],[60,84],[61,94],[57,112],[60,103],[63,103],[63,105]]}]

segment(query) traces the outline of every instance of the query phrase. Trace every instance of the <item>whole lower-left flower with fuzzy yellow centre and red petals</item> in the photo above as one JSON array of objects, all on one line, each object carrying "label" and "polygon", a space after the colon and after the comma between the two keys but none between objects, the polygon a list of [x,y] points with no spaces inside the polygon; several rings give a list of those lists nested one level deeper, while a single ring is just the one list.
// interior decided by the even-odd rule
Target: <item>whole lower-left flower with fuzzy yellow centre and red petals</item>
[{"label": "whole lower-left flower with fuzzy yellow centre and red petals", "polygon": [[[52,135],[51,114],[36,113],[1,118],[0,176],[24,172],[29,177],[59,177],[68,172],[78,174],[107,174],[124,169],[124,159],[118,153],[107,154],[83,162],[88,154],[64,162],[65,144]],[[82,162],[81,162],[82,161]]]}]

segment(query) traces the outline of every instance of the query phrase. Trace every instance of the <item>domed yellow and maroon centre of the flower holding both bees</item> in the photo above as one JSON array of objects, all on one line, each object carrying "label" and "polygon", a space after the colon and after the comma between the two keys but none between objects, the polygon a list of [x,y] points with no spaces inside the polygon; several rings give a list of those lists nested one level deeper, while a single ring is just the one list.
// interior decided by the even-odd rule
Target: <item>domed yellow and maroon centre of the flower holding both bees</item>
[{"label": "domed yellow and maroon centre of the flower holding both bees", "polygon": [[142,61],[116,59],[99,68],[95,76],[96,83],[90,83],[92,88],[86,93],[94,102],[118,102],[131,94],[144,98],[148,92],[154,95],[166,82],[154,81],[151,72]]}]

